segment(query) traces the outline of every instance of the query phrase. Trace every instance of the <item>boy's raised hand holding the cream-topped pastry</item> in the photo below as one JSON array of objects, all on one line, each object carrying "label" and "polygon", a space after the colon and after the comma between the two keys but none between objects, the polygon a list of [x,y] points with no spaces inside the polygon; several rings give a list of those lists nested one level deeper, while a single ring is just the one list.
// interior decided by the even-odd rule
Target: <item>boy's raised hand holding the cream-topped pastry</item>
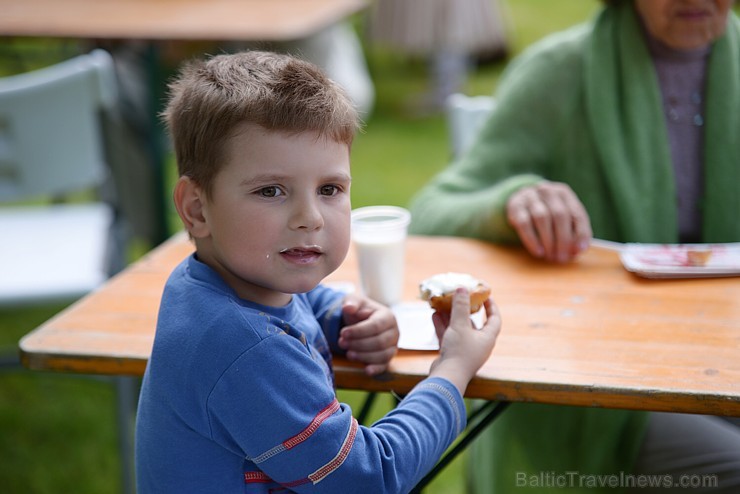
[{"label": "boy's raised hand holding the cream-topped pastry", "polygon": [[430,375],[449,380],[461,394],[488,360],[501,330],[501,316],[493,300],[486,300],[483,307],[486,322],[477,329],[470,320],[470,294],[464,288],[458,288],[452,301],[452,312],[435,312],[432,316],[440,341],[440,354],[432,363]]}]

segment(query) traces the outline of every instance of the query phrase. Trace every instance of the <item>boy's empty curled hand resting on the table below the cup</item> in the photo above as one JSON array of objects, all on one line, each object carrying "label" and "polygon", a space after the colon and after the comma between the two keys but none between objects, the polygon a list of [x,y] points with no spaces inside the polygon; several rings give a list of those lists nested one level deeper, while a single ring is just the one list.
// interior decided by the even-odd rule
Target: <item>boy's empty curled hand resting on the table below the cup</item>
[{"label": "boy's empty curled hand resting on the table below the cup", "polygon": [[365,372],[384,372],[396,354],[398,324],[393,312],[367,297],[347,295],[342,305],[345,326],[339,333],[339,347],[347,358],[367,364]]}]

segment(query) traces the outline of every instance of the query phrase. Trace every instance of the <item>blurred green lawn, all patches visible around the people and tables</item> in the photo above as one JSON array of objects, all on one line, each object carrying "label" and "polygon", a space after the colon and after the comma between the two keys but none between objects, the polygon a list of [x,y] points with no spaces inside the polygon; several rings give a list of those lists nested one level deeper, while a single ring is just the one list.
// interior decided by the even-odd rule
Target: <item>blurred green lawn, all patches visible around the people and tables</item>
[{"label": "blurred green lawn, all patches visible around the people and tables", "polygon": [[[548,32],[585,19],[598,5],[596,0],[508,0],[512,54]],[[42,65],[76,49],[73,42],[6,40],[0,43],[0,73]],[[407,205],[413,192],[446,165],[447,129],[441,115],[420,118],[405,110],[409,99],[427,86],[421,61],[374,49],[369,49],[367,56],[377,104],[353,147],[353,206]],[[498,62],[479,67],[465,92],[491,93],[504,65]],[[172,171],[168,172],[171,176]],[[0,347],[15,351],[23,334],[60,309],[0,309]],[[362,393],[342,391],[340,395],[359,410]],[[384,395],[372,417],[382,416],[391,403]],[[0,373],[3,493],[120,492],[116,447],[115,395],[109,382],[23,370]],[[464,492],[462,461],[450,465],[427,492]]]}]

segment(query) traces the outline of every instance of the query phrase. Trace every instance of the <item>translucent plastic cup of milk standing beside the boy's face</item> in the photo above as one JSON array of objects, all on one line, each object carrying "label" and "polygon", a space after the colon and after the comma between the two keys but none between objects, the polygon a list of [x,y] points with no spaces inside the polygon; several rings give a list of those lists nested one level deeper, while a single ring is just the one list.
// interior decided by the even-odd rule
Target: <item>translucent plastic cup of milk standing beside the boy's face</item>
[{"label": "translucent plastic cup of milk standing beside the boy's face", "polygon": [[403,298],[410,222],[411,213],[396,206],[368,206],[352,211],[352,241],[362,291],[385,305],[397,304]]}]

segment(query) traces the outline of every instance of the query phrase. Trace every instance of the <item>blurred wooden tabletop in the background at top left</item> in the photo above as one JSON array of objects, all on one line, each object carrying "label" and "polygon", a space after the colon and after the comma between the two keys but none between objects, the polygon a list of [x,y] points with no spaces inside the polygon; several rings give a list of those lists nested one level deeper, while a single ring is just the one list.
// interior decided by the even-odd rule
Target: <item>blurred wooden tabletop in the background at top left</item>
[{"label": "blurred wooden tabletop in the background at top left", "polygon": [[367,0],[0,0],[0,34],[286,41],[366,6]]}]

